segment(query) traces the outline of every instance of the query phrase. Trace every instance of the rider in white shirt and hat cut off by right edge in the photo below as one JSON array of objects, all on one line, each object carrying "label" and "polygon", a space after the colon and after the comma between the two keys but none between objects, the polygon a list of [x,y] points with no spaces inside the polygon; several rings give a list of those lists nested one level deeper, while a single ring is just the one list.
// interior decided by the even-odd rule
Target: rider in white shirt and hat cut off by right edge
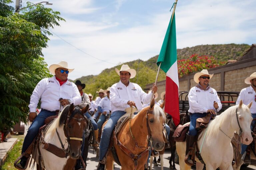
[{"label": "rider in white shirt and hat cut off by right edge", "polygon": [[[236,105],[239,105],[240,100],[243,101],[245,105],[248,105],[251,101],[255,101],[252,103],[252,106],[250,108],[253,121],[251,123],[251,130],[255,127],[256,124],[256,72],[252,73],[249,77],[247,77],[244,82],[246,84],[250,84],[251,86],[246,87],[241,90]],[[250,159],[250,149],[247,149],[248,145],[242,144],[241,146],[241,154],[244,154],[246,151],[246,155],[244,157],[245,163],[251,163]]]}]

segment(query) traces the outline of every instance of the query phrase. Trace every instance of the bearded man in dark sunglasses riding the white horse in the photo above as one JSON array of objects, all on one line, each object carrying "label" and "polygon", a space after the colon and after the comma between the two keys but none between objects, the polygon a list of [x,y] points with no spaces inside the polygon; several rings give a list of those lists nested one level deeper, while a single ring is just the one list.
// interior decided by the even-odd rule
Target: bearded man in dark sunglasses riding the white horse
[{"label": "bearded man in dark sunglasses riding the white horse", "polygon": [[190,166],[193,165],[190,152],[193,149],[193,144],[197,136],[196,120],[206,117],[207,113],[216,114],[215,111],[218,112],[222,108],[216,90],[209,85],[212,76],[213,74],[209,74],[205,69],[196,73],[194,75],[194,81],[198,84],[192,87],[188,94],[190,126],[186,136],[187,146],[185,162]]}]

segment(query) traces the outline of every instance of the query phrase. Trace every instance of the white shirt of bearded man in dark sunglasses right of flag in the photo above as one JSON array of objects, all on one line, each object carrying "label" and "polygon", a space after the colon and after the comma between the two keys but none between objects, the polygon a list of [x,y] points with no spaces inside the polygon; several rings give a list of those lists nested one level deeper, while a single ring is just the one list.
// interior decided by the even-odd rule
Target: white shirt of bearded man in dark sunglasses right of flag
[{"label": "white shirt of bearded man in dark sunglasses right of flag", "polygon": [[222,104],[215,89],[201,90],[198,87],[192,87],[188,94],[189,112],[190,113],[207,113],[208,109],[215,110],[213,103],[217,102],[220,111]]}]

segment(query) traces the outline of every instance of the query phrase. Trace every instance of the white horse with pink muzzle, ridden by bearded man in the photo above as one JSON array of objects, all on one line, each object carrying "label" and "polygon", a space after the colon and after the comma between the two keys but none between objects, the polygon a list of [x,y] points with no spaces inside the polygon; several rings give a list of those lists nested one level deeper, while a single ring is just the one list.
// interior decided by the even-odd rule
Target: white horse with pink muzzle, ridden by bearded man
[{"label": "white horse with pink muzzle, ridden by bearded man", "polygon": [[[204,129],[198,138],[198,148],[204,160],[207,170],[220,169],[233,170],[233,148],[231,145],[232,136],[237,131],[241,135],[241,142],[250,144],[252,141],[250,124],[252,117],[249,105],[244,105],[242,100],[238,106],[232,106],[221,115],[216,116],[210,122],[208,128]],[[201,149],[200,149],[201,148]],[[176,149],[179,155],[180,169],[187,170],[190,166],[185,164],[186,142],[176,142]],[[197,170],[202,170],[202,164],[195,157]]]}]

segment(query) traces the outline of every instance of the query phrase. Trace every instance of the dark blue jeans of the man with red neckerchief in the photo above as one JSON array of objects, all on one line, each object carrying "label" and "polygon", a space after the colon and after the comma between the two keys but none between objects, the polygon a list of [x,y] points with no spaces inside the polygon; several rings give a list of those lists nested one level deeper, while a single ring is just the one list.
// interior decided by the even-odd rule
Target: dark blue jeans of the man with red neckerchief
[{"label": "dark blue jeans of the man with red neckerchief", "polygon": [[48,118],[49,116],[54,116],[54,115],[56,115],[56,112],[51,112],[44,109],[41,110],[41,112],[37,115],[37,117],[34,119],[33,123],[28,129],[27,135],[25,136],[25,139],[23,142],[21,153],[25,152],[28,149],[29,145],[32,143],[32,141],[38,134],[39,128],[44,125],[45,119]]}]

